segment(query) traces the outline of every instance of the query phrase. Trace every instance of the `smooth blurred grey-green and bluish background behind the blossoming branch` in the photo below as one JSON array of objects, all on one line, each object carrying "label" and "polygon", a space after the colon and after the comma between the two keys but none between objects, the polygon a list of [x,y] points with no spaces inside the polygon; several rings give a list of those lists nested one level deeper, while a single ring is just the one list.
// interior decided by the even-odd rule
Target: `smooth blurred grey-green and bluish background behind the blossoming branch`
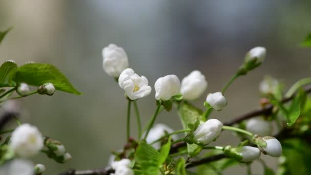
[{"label": "smooth blurred grey-green and bluish background behind the blossoming branch", "polygon": [[[124,92],[102,70],[101,50],[109,43],[123,47],[130,68],[145,75],[153,87],[157,78],[175,74],[180,79],[202,71],[209,87],[219,91],[235,73],[245,53],[264,46],[262,66],[236,80],[226,93],[228,106],[212,117],[221,121],[258,107],[258,83],[265,74],[286,85],[310,75],[310,49],[299,43],[311,30],[311,1],[1,1],[0,30],[13,30],[0,47],[1,62],[11,59],[55,64],[83,92],[56,92],[23,99],[21,119],[37,125],[44,135],[60,140],[73,156],[57,164],[45,155],[46,174],[68,168],[107,165],[110,151],[125,142]],[[205,97],[193,102],[203,108]],[[139,102],[145,124],[156,106],[154,90]],[[175,111],[163,112],[156,122],[180,129]],[[133,120],[131,135],[137,135]],[[216,144],[237,144],[224,132]],[[276,168],[278,159],[262,156]],[[262,174],[258,162],[252,165]],[[243,166],[224,174],[245,174]]]}]

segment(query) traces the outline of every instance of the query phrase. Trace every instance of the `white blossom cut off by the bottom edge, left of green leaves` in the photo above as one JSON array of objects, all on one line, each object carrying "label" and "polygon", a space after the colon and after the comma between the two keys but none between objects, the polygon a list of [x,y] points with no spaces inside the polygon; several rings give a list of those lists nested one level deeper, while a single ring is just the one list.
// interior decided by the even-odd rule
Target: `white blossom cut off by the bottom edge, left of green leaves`
[{"label": "white blossom cut off by the bottom edge, left of green leaves", "polygon": [[129,159],[122,159],[120,161],[114,161],[112,168],[115,170],[114,175],[134,175],[134,171],[130,168],[131,162]]}]

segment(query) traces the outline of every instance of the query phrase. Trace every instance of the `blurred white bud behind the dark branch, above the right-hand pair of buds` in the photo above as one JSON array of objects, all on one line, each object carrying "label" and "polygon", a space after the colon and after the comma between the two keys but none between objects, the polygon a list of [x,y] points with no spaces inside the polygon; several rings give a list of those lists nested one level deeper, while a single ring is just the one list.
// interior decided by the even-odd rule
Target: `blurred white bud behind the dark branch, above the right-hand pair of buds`
[{"label": "blurred white bud behind the dark branch, above the right-hand pair of buds", "polygon": [[270,136],[272,124],[261,117],[255,117],[246,122],[246,130],[259,136]]}]

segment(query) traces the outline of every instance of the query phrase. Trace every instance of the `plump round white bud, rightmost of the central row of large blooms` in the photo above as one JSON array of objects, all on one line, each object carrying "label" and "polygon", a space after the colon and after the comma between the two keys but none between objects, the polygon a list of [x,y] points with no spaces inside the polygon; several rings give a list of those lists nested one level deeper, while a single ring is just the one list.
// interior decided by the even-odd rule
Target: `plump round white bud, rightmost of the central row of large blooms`
[{"label": "plump round white bud, rightmost of the central row of large blooms", "polygon": [[192,71],[182,80],[181,94],[186,100],[199,98],[207,89],[207,81],[200,71]]}]

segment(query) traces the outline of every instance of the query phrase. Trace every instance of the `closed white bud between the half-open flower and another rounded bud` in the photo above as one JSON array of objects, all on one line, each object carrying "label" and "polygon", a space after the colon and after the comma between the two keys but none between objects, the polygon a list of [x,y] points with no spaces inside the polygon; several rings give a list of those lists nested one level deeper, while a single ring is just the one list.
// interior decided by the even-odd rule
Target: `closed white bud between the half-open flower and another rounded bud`
[{"label": "closed white bud between the half-open flower and another rounded bud", "polygon": [[169,100],[181,91],[181,82],[176,75],[159,78],[154,84],[157,100]]}]

